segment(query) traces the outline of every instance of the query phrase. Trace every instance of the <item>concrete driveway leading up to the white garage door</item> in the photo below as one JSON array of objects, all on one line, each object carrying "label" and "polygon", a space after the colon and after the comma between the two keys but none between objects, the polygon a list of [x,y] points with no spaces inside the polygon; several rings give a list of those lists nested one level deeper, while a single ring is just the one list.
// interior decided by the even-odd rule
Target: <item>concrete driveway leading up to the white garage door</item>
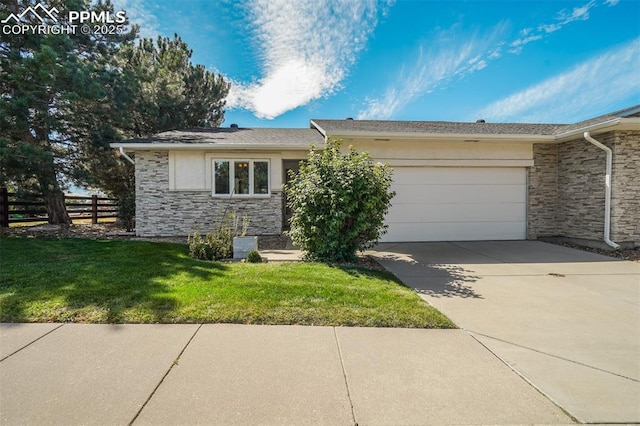
[{"label": "concrete driveway leading up to the white garage door", "polygon": [[640,422],[640,263],[538,241],[373,254],[579,421]]}]

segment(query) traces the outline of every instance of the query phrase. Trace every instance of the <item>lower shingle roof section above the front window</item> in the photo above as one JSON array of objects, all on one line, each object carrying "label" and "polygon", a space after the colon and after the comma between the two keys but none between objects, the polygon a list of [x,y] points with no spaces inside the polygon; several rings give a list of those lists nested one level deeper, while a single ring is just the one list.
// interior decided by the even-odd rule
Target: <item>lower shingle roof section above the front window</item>
[{"label": "lower shingle roof section above the front window", "polygon": [[315,129],[271,129],[271,128],[197,128],[172,130],[148,138],[139,138],[121,143],[135,144],[210,144],[210,145],[282,145],[284,147],[309,147],[320,145],[324,138]]}]

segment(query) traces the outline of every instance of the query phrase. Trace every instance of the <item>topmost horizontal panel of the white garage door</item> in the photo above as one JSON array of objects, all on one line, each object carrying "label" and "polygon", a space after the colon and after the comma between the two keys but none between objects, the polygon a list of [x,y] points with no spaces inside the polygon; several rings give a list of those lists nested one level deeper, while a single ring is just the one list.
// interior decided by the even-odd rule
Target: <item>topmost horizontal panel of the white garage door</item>
[{"label": "topmost horizontal panel of the white garage door", "polygon": [[441,185],[525,184],[526,174],[518,167],[396,167],[396,184],[437,183]]}]

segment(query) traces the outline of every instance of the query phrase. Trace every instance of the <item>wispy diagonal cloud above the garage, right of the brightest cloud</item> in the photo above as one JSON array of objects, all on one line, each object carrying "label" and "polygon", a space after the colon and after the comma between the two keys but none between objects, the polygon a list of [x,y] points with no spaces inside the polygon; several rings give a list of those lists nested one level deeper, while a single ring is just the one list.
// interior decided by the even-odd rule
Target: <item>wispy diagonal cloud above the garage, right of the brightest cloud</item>
[{"label": "wispy diagonal cloud above the garage, right of the brightest cloud", "polygon": [[457,27],[441,32],[430,43],[421,45],[412,55],[415,61],[403,64],[394,82],[381,97],[367,99],[367,106],[358,119],[385,120],[411,101],[432,92],[453,78],[462,78],[479,71],[488,61],[500,57],[498,48],[490,50],[505,30],[505,24],[495,26],[485,34],[475,33],[457,41]]}]

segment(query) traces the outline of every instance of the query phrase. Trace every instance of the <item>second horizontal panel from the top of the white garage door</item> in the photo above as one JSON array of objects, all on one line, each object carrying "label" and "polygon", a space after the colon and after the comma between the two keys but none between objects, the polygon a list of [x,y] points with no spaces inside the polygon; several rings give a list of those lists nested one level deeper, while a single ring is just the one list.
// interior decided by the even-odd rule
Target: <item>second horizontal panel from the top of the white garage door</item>
[{"label": "second horizontal panel from the top of the white garage door", "polygon": [[392,204],[526,202],[522,185],[393,185]]}]

